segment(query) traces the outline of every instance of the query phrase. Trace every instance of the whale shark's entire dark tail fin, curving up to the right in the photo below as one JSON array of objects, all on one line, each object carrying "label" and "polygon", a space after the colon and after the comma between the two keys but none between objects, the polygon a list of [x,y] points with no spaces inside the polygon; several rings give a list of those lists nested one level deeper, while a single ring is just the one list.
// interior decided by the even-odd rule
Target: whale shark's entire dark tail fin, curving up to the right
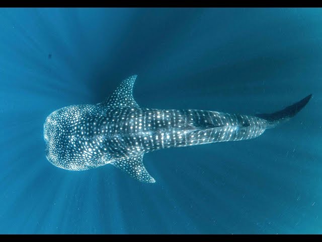
[{"label": "whale shark's entire dark tail fin, curving up to the right", "polygon": [[295,116],[311,99],[312,94],[304,97],[302,100],[290,105],[280,111],[273,113],[257,113],[256,116],[267,120],[266,129],[274,128],[279,124],[283,124],[291,117]]}]

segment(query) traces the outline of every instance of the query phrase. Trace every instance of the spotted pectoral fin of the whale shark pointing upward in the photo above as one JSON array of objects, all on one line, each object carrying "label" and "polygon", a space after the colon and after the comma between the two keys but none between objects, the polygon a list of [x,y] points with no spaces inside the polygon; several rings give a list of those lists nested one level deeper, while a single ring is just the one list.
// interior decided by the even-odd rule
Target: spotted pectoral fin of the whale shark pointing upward
[{"label": "spotted pectoral fin of the whale shark pointing upward", "polygon": [[124,79],[121,84],[114,90],[111,96],[109,96],[104,102],[99,104],[109,107],[136,107],[139,105],[135,102],[133,93],[133,84],[137,75],[130,76]]}]

